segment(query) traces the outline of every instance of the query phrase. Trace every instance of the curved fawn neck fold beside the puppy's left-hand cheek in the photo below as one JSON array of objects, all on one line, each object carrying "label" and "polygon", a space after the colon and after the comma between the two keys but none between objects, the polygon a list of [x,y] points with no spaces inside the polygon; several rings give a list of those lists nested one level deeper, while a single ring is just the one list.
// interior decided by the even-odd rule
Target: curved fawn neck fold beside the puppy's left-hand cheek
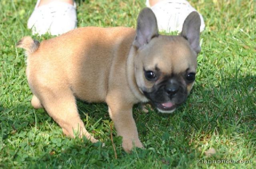
[{"label": "curved fawn neck fold beside the puppy's left-hand cheek", "polygon": [[128,80],[128,85],[132,90],[132,93],[134,94],[134,96],[141,102],[148,102],[149,101],[148,98],[144,96],[143,92],[140,90],[135,80],[135,74],[134,74],[135,73],[134,71],[135,55],[136,55],[136,49],[132,45],[126,61],[126,78]]}]

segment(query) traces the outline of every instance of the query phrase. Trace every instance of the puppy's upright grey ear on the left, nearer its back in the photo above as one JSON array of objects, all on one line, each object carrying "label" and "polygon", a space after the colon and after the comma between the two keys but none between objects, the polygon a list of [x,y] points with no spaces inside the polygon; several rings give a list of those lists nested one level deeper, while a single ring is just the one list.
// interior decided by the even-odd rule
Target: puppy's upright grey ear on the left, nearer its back
[{"label": "puppy's upright grey ear on the left, nearer its back", "polygon": [[138,16],[133,45],[138,49],[156,36],[158,36],[156,16],[150,8],[144,8]]}]

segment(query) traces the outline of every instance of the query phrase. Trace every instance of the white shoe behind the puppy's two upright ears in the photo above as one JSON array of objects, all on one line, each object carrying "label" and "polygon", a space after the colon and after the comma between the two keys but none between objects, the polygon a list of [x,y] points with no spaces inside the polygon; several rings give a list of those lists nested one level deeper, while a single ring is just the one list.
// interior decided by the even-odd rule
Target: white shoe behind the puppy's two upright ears
[{"label": "white shoe behind the puppy's two upright ears", "polygon": [[[159,31],[182,31],[183,23],[186,17],[193,11],[196,11],[186,0],[162,0],[150,7],[146,0],[146,6],[152,9],[156,15]],[[196,11],[197,12],[197,11]],[[199,13],[198,13],[199,14]],[[204,18],[201,14],[200,31],[204,30]]]}]

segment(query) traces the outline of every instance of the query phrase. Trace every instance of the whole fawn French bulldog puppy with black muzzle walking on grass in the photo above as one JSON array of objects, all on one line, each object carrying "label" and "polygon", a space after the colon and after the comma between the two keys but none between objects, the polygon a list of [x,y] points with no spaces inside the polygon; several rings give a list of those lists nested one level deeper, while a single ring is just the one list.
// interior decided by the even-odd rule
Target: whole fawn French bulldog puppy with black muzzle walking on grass
[{"label": "whole fawn French bulldog puppy with black muzzle walking on grass", "polygon": [[28,84],[34,108],[44,108],[64,134],[96,140],[80,119],[76,98],[106,102],[122,146],[143,147],[132,107],[151,102],[170,113],[185,102],[200,52],[200,17],[192,12],[180,35],[160,35],[152,10],[144,8],[132,28],[85,27],[39,43],[24,37]]}]

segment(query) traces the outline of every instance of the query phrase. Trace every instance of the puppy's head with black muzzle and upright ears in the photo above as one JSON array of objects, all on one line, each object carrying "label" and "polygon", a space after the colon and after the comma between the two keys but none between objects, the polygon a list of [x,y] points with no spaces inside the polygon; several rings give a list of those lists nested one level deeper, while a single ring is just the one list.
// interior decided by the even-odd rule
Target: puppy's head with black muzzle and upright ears
[{"label": "puppy's head with black muzzle and upright ears", "polygon": [[133,42],[135,79],[140,91],[160,112],[173,112],[185,102],[194,84],[200,24],[199,14],[192,12],[180,35],[159,35],[152,10],[144,8],[138,16]]}]

